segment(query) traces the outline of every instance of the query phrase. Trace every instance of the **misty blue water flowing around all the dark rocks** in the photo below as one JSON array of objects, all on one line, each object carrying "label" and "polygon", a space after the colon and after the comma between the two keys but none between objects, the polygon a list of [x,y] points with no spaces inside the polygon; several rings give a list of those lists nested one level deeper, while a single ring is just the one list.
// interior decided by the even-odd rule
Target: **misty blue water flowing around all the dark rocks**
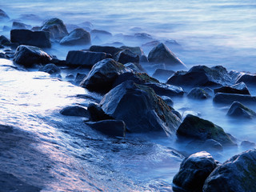
[{"label": "misty blue water flowing around all the dark rocks", "polygon": [[[126,46],[142,46],[154,39],[175,40],[178,45],[167,46],[188,68],[222,65],[227,70],[256,73],[254,1],[2,0],[0,8],[11,19],[30,26],[41,26],[46,18],[53,17],[61,18],[67,26],[91,22],[91,29],[113,34],[113,38],[102,39],[102,42],[92,39],[98,45],[122,42]],[[0,30],[3,26],[11,27],[14,20],[1,22]],[[10,38],[10,30],[0,33]],[[135,33],[150,34],[152,39],[129,41],[121,35]],[[69,50],[86,48],[88,46],[59,46],[55,42],[51,49],[45,50],[65,59]],[[142,46],[146,54],[151,48]],[[145,68],[148,74],[154,73],[155,67]],[[78,94],[98,100],[100,95],[42,72],[17,68],[5,59],[0,60],[0,74],[0,124],[14,126],[33,140],[26,155],[19,155],[24,150],[22,145],[2,155],[1,161],[6,163],[0,166],[1,170],[14,173],[46,191],[171,191],[172,178],[184,158],[182,154],[195,152],[186,148],[187,143],[175,142],[175,138],[154,138],[145,134],[128,135],[126,139],[108,138],[86,126],[86,118],[59,114],[64,106],[87,106],[95,102],[90,97],[79,98]],[[256,94],[254,87],[249,86],[249,90],[252,95]],[[228,118],[228,106],[216,105],[212,98],[205,101],[194,101],[186,96],[172,99],[174,109],[183,117],[197,114],[222,126],[238,138],[238,145],[244,140],[256,142],[254,119]],[[256,106],[249,107],[256,110]],[[213,156],[223,162],[242,150],[238,146],[213,153]],[[42,161],[38,162],[39,157]],[[22,162],[22,167],[17,167],[17,161]]]}]

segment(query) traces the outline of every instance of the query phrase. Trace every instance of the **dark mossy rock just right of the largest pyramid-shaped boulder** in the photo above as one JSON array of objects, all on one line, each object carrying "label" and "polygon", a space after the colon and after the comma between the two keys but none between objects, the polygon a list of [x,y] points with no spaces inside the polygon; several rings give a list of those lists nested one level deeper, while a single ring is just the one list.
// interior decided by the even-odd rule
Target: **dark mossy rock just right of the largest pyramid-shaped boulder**
[{"label": "dark mossy rock just right of the largest pyramid-shaped boulder", "polygon": [[178,127],[177,136],[178,138],[190,138],[202,141],[214,139],[220,142],[222,146],[236,145],[232,138],[224,132],[222,127],[192,114],[186,115],[186,118]]}]

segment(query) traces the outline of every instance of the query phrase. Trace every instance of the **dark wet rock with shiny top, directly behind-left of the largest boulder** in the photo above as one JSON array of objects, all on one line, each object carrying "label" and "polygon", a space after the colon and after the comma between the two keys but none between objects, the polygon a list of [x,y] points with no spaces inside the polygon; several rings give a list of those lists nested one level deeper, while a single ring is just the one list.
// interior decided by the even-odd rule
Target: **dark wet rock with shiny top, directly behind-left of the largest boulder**
[{"label": "dark wet rock with shiny top, directly behind-left of the largest boulder", "polygon": [[112,58],[106,58],[93,66],[80,86],[88,90],[106,93],[111,90],[118,75],[126,71],[126,67],[121,63],[115,62]]}]

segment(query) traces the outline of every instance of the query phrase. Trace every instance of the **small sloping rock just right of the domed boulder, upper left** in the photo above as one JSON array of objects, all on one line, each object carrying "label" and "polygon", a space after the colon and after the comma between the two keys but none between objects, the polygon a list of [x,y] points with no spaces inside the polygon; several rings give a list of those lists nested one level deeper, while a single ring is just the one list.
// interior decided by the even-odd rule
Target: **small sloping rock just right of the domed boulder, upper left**
[{"label": "small sloping rock just right of the domed boulder, upper left", "polygon": [[70,34],[62,38],[60,44],[63,46],[88,45],[90,44],[90,33],[82,28],[72,30]]}]

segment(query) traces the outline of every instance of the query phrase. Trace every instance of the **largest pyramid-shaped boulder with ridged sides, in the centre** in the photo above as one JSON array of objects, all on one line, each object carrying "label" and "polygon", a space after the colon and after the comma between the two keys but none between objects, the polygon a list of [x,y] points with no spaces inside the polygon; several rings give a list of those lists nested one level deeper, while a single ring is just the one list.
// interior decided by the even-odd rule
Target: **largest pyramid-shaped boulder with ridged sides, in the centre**
[{"label": "largest pyramid-shaped boulder with ridged sides, in the centre", "polygon": [[148,86],[126,81],[110,90],[100,102],[111,117],[126,122],[133,133],[174,135],[180,119]]}]

